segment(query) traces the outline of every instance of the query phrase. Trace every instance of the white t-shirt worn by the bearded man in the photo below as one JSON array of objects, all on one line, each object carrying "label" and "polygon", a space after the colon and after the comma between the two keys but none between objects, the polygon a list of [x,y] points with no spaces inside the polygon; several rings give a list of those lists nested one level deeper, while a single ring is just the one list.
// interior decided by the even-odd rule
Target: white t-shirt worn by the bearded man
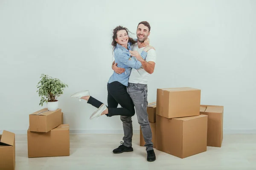
[{"label": "white t-shirt worn by the bearded man", "polygon": [[[144,48],[145,47],[139,48],[137,43],[131,45],[131,50],[138,51],[139,54],[141,54],[141,52],[143,51]],[[156,57],[157,57],[156,51],[154,49],[150,49],[150,50],[148,50],[148,54],[147,54],[147,57],[145,60],[146,60],[146,62],[149,62],[149,61],[156,62]],[[143,69],[143,67],[141,67],[139,69],[132,68],[131,75],[129,77],[129,82],[147,85],[148,84],[148,76],[149,76],[149,73],[147,71],[145,71]]]}]

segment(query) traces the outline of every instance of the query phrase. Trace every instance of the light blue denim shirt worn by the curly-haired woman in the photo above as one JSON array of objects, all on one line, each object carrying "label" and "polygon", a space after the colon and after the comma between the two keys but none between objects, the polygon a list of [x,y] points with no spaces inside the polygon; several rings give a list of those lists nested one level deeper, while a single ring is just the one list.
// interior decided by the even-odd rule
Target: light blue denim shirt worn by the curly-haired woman
[{"label": "light blue denim shirt worn by the curly-haired woman", "polygon": [[[114,48],[114,58],[117,66],[120,68],[125,68],[125,72],[122,74],[117,74],[115,71],[108,80],[108,83],[118,81],[125,86],[128,86],[128,80],[131,74],[131,68],[139,69],[142,64],[136,59],[136,57],[131,56],[129,49],[131,49],[131,42],[128,42],[128,49],[124,48],[122,45],[117,44]],[[147,57],[147,52],[142,51],[140,54],[143,59]]]}]

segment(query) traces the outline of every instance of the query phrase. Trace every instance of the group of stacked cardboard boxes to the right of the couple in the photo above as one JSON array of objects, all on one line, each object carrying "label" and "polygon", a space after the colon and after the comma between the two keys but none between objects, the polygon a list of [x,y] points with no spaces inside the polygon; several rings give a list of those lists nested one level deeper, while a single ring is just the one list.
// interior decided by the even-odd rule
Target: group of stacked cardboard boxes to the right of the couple
[{"label": "group of stacked cardboard boxes to the right of the couple", "polygon": [[153,139],[157,150],[186,158],[205,152],[207,146],[221,147],[223,106],[200,105],[200,102],[200,89],[157,89]]}]

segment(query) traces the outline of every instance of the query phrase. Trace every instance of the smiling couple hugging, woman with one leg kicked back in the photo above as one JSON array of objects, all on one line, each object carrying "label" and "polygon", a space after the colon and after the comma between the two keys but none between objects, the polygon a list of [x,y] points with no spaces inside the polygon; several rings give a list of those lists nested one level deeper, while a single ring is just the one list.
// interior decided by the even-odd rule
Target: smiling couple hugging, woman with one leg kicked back
[{"label": "smiling couple hugging, woman with one leg kicked back", "polygon": [[[118,26],[113,30],[113,74],[108,81],[108,105],[90,96],[89,91],[81,91],[71,97],[87,100],[87,103],[98,108],[91,116],[94,119],[101,115],[120,116],[123,124],[124,137],[121,145],[113,153],[131,152],[132,119],[136,109],[137,119],[141,126],[147,160],[155,161],[151,127],[148,121],[148,76],[154,72],[156,52],[149,45],[150,25],[142,21],[137,26],[137,39],[128,36],[128,29]],[[118,104],[122,108],[117,108]]]}]

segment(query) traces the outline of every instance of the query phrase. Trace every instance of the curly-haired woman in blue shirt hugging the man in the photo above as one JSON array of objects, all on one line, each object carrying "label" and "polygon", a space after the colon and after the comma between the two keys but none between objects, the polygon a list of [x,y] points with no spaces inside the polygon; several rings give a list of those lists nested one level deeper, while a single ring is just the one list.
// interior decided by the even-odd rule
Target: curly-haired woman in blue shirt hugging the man
[{"label": "curly-haired woman in blue shirt hugging the man", "polygon": [[[147,46],[143,49],[141,55],[139,53],[130,54],[131,44],[136,43],[137,41],[128,37],[128,29],[122,26],[118,26],[113,30],[113,53],[115,62],[118,67],[125,68],[125,72],[122,74],[116,74],[113,72],[112,76],[108,81],[108,106],[99,102],[90,96],[89,91],[81,91],[76,94],[73,94],[71,97],[87,100],[87,103],[98,108],[91,116],[90,119],[94,119],[101,115],[107,115],[108,117],[121,115],[121,116],[134,116],[134,103],[130,95],[127,92],[128,79],[131,74],[131,68],[138,69],[142,66],[141,62],[134,59],[132,56],[137,59],[145,59],[147,56],[147,51],[152,46]],[[121,105],[122,108],[117,108]]]}]

